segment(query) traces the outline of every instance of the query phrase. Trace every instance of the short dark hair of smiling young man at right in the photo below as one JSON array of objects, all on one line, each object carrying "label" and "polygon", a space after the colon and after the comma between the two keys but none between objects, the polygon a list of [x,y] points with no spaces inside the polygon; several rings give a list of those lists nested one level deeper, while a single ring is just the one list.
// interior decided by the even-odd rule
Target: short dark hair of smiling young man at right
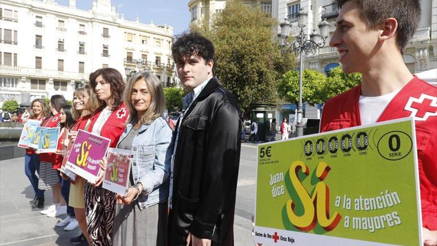
[{"label": "short dark hair of smiling young man at right", "polygon": [[341,8],[348,1],[357,4],[361,17],[367,22],[369,29],[383,23],[387,18],[395,18],[398,22],[396,45],[401,53],[419,26],[421,16],[419,0],[334,0],[334,3]]}]

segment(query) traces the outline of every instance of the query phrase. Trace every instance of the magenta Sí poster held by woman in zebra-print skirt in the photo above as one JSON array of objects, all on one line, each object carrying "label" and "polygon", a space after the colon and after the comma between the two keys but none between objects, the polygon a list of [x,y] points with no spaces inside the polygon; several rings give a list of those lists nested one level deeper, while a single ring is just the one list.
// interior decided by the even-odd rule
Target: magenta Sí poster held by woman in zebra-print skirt
[{"label": "magenta S\u00ed poster held by woman in zebra-print skirt", "polygon": [[106,155],[111,140],[79,130],[65,167],[91,183],[100,171],[99,162]]}]

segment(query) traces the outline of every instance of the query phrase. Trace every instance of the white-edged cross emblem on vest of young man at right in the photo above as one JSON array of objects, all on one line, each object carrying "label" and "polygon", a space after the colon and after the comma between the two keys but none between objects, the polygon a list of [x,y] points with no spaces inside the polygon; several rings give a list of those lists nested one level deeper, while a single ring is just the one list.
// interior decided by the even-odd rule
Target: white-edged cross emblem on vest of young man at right
[{"label": "white-edged cross emblem on vest of young man at right", "polygon": [[426,121],[430,116],[437,116],[437,97],[421,94],[419,98],[410,97],[405,110],[411,111],[410,117],[417,121]]}]

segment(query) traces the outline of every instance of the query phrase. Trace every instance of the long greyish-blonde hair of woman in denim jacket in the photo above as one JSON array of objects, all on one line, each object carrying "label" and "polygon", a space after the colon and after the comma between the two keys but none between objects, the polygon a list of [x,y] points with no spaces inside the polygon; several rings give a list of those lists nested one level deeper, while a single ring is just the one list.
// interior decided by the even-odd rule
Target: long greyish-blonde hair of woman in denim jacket
[{"label": "long greyish-blonde hair of woman in denim jacket", "polygon": [[[137,110],[132,105],[131,93],[134,84],[142,79],[146,82],[147,89],[149,90],[151,96],[151,102],[146,113],[140,119],[138,119]],[[133,121],[137,119],[140,125],[150,124],[156,118],[162,117],[164,115],[164,109],[165,109],[164,89],[162,88],[162,84],[159,81],[159,79],[152,73],[138,72],[132,75],[128,81],[128,84],[126,85],[123,98],[126,107],[129,110],[129,119],[127,123],[133,123]]]}]

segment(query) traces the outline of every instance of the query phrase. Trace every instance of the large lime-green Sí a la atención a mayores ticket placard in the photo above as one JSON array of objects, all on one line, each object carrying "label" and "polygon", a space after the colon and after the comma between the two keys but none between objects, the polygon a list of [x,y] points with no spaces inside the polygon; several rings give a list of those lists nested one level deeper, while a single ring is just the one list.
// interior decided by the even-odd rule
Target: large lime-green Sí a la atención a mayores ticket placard
[{"label": "large lime-green S\u00ed a la atenci\u00f3n a mayores ticket placard", "polygon": [[255,242],[422,245],[414,121],[258,146]]}]

